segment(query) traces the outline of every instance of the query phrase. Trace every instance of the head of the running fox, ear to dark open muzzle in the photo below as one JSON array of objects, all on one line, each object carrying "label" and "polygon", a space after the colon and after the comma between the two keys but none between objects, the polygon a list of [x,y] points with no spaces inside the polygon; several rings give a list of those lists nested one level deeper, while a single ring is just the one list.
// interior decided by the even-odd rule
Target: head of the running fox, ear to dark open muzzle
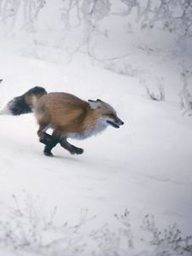
[{"label": "head of the running fox, ear to dark open muzzle", "polygon": [[111,125],[114,128],[119,128],[120,125],[124,125],[124,122],[119,119],[116,111],[106,102],[102,102],[101,100],[88,101],[91,109],[96,109],[97,113],[99,113],[102,121],[105,125]]}]

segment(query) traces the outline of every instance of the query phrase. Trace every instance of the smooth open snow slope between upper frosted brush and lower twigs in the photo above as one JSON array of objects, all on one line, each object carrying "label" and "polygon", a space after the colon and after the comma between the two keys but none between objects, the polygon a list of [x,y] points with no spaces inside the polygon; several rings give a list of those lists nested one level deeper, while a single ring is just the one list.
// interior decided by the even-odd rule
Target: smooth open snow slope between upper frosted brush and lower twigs
[{"label": "smooth open snow slope between upper frosted brush and lower twigs", "polygon": [[[76,224],[81,212],[88,209],[88,223],[81,233],[88,244],[80,253],[84,256],[97,252],[98,248],[102,248],[102,251],[95,255],[107,255],[101,244],[96,243],[98,239],[90,241],[89,234],[106,223],[111,230],[119,230],[120,224],[113,214],[122,214],[125,209],[130,211],[135,246],[131,251],[126,251],[123,244],[121,253],[110,254],[108,249],[108,255],[149,255],[150,252],[155,255],[154,247],[141,240],[146,236],[140,230],[146,214],[154,215],[155,224],[160,230],[177,223],[183,236],[191,235],[192,120],[183,116],[179,109],[179,86],[172,88],[165,83],[168,100],[154,102],[146,96],[139,82],[140,77],[112,73],[96,62],[90,64],[85,55],[77,54],[72,62],[65,64],[44,61],[44,58],[39,60],[23,53],[19,55],[13,47],[3,42],[1,46],[0,71],[4,79],[0,87],[2,106],[12,97],[40,85],[48,91],[67,91],[84,99],[101,98],[109,102],[125,121],[119,130],[108,127],[97,137],[74,141],[75,145],[84,148],[82,155],[70,155],[57,146],[54,149],[55,157],[49,158],[44,156],[43,145],[38,143],[38,125],[33,114],[1,116],[2,212],[9,212],[9,207],[15,207],[15,201],[19,208],[25,209],[28,198],[31,207],[34,207],[34,201],[38,201],[39,216],[47,218],[52,209],[58,207],[55,221],[61,226],[66,221]],[[44,50],[49,56],[52,55],[52,49]],[[145,62],[149,58],[153,57],[144,55],[139,49],[135,51],[135,60]],[[165,66],[162,63],[155,72],[161,70],[164,75],[169,73],[168,80],[174,82],[176,63],[172,61],[172,65],[166,63]],[[137,68],[139,70],[139,64]],[[145,75],[148,76],[148,73]],[[34,198],[37,196],[39,199],[36,201]],[[3,218],[10,221],[11,211],[9,214],[6,211]],[[89,220],[95,215],[96,218]],[[24,217],[21,222],[25,226]],[[53,234],[58,236],[57,233]],[[52,254],[47,255],[69,256],[77,253],[68,251],[63,254],[64,251],[58,249],[59,246],[55,253],[51,251]],[[21,247],[17,255],[39,253],[34,247],[27,247],[26,251],[22,254]],[[12,256],[15,255],[15,248],[8,244],[0,252],[0,255]]]}]

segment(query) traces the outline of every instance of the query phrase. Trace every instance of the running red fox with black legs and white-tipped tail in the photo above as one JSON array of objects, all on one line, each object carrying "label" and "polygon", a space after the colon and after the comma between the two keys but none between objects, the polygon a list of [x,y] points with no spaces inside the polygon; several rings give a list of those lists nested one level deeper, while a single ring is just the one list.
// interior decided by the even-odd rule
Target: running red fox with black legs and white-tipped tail
[{"label": "running red fox with black legs and white-tipped tail", "polygon": [[[66,92],[47,92],[36,86],[16,96],[0,114],[34,113],[38,122],[38,139],[44,144],[44,155],[53,156],[52,149],[59,143],[70,154],[83,154],[83,148],[68,143],[68,138],[83,140],[106,130],[119,128],[124,122],[107,102],[100,99],[84,101]],[[52,130],[50,135],[46,131]]]}]

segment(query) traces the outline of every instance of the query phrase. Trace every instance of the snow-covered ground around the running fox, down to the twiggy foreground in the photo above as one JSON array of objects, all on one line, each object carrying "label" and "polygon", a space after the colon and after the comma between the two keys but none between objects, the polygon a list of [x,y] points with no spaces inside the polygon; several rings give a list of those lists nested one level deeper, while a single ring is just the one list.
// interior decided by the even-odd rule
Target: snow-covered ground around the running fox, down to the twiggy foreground
[{"label": "snow-covered ground around the running fox, down to the twiggy foreground", "polygon": [[[84,148],[82,155],[70,155],[57,146],[55,157],[49,158],[38,142],[33,114],[1,115],[0,255],[164,255],[158,253],[166,242],[165,247],[160,241],[149,242],[153,229],[163,231],[177,224],[183,237],[192,235],[192,119],[179,108],[182,84],[177,60],[158,51],[153,42],[152,49],[129,44],[131,55],[123,61],[101,64],[81,53],[68,62],[62,49],[35,44],[27,49],[14,39],[1,40],[2,106],[40,85],[84,100],[101,98],[117,110],[125,125],[73,141]],[[130,75],[119,74],[121,67]],[[150,100],[142,83],[155,91],[157,77],[164,78],[165,102]],[[46,230],[41,222],[55,207],[55,224]],[[130,213],[119,220],[114,216],[126,209]],[[148,235],[150,227],[146,231],[142,225],[150,216],[154,226],[151,217]],[[69,228],[62,230],[66,222]],[[30,229],[41,239],[34,240],[37,234]],[[63,234],[66,244],[63,238],[62,244],[57,241]],[[120,244],[119,237],[123,237]],[[48,241],[55,244],[44,248]],[[79,252],[81,242],[87,245]],[[170,250],[171,255],[180,255]]]}]

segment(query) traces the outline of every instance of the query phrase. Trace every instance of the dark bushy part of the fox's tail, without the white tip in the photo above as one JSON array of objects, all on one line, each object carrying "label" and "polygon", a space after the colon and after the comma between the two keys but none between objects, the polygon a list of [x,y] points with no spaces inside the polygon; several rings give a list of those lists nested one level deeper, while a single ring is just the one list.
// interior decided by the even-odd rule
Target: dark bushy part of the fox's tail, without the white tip
[{"label": "dark bushy part of the fox's tail, without the white tip", "polygon": [[15,97],[8,103],[8,108],[13,115],[20,115],[22,113],[32,113],[33,108],[33,99],[40,98],[44,94],[47,94],[47,91],[43,87],[33,87],[30,90],[27,90],[21,96]]}]

